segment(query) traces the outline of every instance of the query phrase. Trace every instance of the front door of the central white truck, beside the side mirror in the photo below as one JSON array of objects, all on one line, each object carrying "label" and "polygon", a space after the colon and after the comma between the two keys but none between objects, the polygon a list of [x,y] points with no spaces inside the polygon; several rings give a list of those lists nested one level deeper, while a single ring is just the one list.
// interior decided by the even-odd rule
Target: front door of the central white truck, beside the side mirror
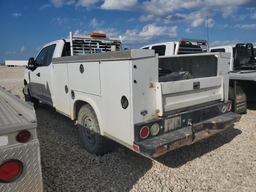
[{"label": "front door of the central white truck, beside the side mirror", "polygon": [[36,69],[30,71],[30,93],[33,97],[42,99],[42,84],[41,84],[41,69],[46,62],[46,55],[48,53],[48,47],[43,48],[36,57]]}]

